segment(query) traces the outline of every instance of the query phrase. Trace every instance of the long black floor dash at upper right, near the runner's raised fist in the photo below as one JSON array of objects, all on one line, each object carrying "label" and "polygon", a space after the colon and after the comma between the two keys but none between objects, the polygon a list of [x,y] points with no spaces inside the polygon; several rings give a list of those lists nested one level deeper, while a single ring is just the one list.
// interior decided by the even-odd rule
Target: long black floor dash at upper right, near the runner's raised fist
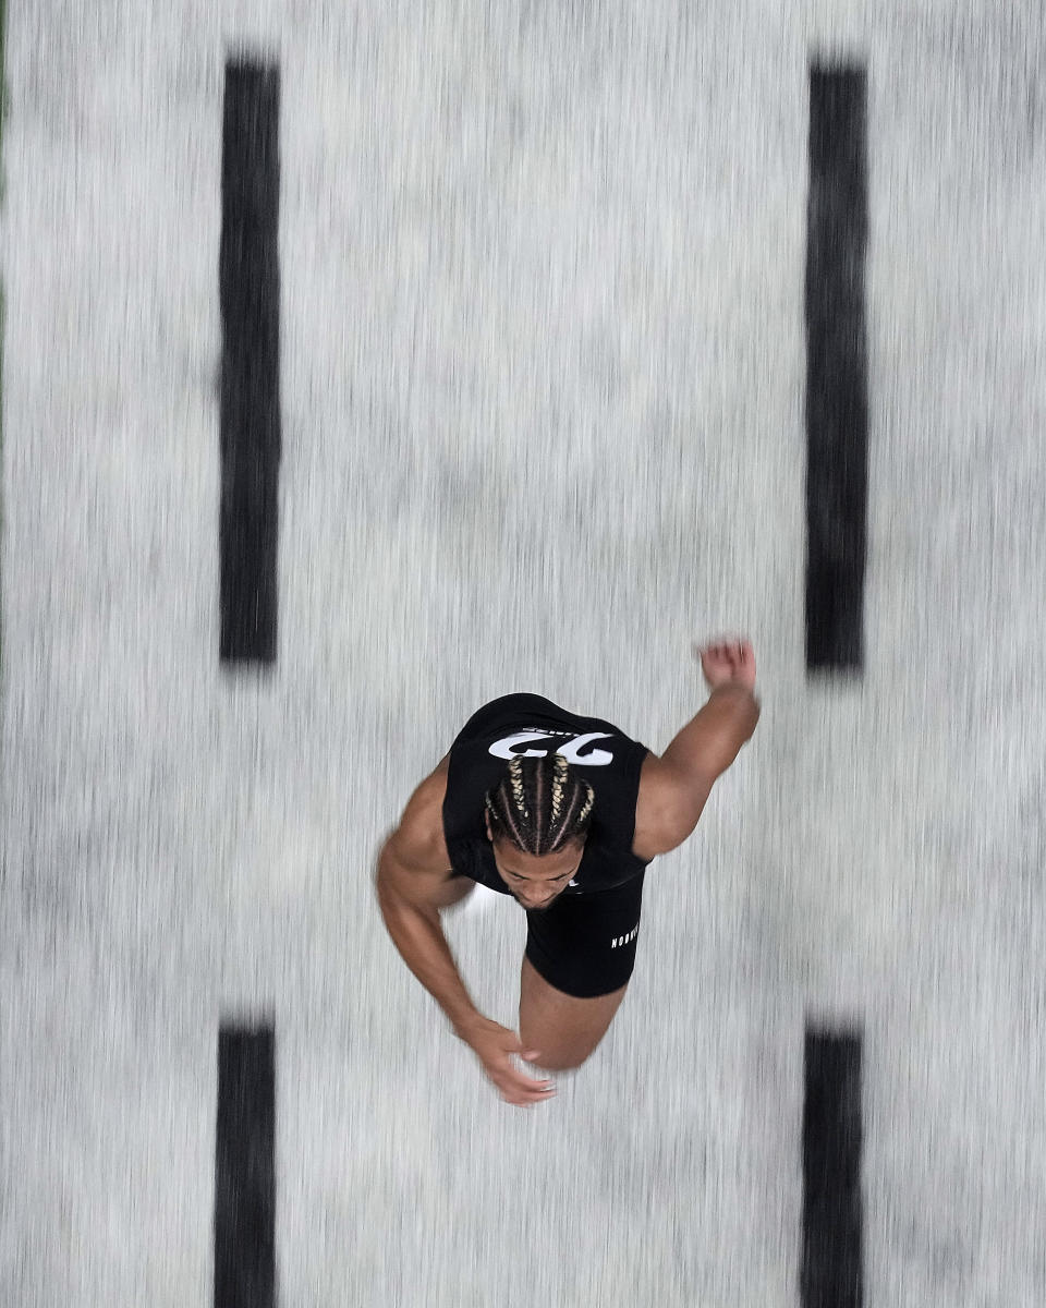
[{"label": "long black floor dash at upper right, near the runner's raised fist", "polygon": [[866,71],[811,68],[807,667],[863,666],[868,519]]}]

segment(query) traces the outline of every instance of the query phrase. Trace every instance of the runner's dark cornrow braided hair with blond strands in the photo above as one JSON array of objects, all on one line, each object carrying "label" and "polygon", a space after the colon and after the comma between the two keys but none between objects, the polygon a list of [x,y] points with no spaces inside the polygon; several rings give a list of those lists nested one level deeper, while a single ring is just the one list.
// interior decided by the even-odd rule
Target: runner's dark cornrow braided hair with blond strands
[{"label": "runner's dark cornrow braided hair with blond strands", "polygon": [[561,753],[511,760],[496,790],[484,795],[494,840],[509,840],[524,854],[558,854],[583,840],[596,797]]}]

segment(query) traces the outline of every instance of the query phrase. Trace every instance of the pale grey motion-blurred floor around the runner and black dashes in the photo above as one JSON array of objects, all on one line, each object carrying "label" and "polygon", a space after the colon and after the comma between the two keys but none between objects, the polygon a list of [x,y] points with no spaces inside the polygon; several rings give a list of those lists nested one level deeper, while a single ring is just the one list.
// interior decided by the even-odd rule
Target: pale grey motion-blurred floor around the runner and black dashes
[{"label": "pale grey motion-blurred floor around the runner and black dashes", "polygon": [[[869,1308],[1041,1305],[1042,10],[421,10],[8,14],[0,1303],[211,1303],[217,1025],[272,1011],[282,1308],[795,1304],[820,1019],[866,1035]],[[282,69],[264,675],[217,658],[239,41]],[[868,67],[863,680],[803,667],[818,56]],[[380,841],[509,691],[663,749],[722,632],[756,736],[604,1044],[509,1107]],[[447,926],[513,1027],[524,927]]]}]

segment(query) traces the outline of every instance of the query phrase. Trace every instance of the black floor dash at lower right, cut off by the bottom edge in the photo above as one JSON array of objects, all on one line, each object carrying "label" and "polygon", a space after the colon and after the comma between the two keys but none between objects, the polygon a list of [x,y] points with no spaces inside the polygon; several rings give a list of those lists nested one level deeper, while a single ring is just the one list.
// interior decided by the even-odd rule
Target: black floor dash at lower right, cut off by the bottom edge
[{"label": "black floor dash at lower right, cut off by the bottom edge", "polygon": [[860,1036],[807,1032],[801,1308],[863,1308]]}]

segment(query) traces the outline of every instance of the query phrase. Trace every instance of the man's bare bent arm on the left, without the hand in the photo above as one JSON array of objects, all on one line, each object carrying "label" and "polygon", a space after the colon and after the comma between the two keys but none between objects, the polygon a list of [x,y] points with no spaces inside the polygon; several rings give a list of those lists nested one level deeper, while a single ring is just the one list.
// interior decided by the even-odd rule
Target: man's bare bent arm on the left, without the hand
[{"label": "man's bare bent arm on the left, without the hand", "polygon": [[416,799],[417,791],[378,858],[378,904],[404,963],[450,1018],[454,1033],[468,1041],[471,1028],[485,1019],[465,990],[439,923],[450,869],[433,861],[431,804]]}]

